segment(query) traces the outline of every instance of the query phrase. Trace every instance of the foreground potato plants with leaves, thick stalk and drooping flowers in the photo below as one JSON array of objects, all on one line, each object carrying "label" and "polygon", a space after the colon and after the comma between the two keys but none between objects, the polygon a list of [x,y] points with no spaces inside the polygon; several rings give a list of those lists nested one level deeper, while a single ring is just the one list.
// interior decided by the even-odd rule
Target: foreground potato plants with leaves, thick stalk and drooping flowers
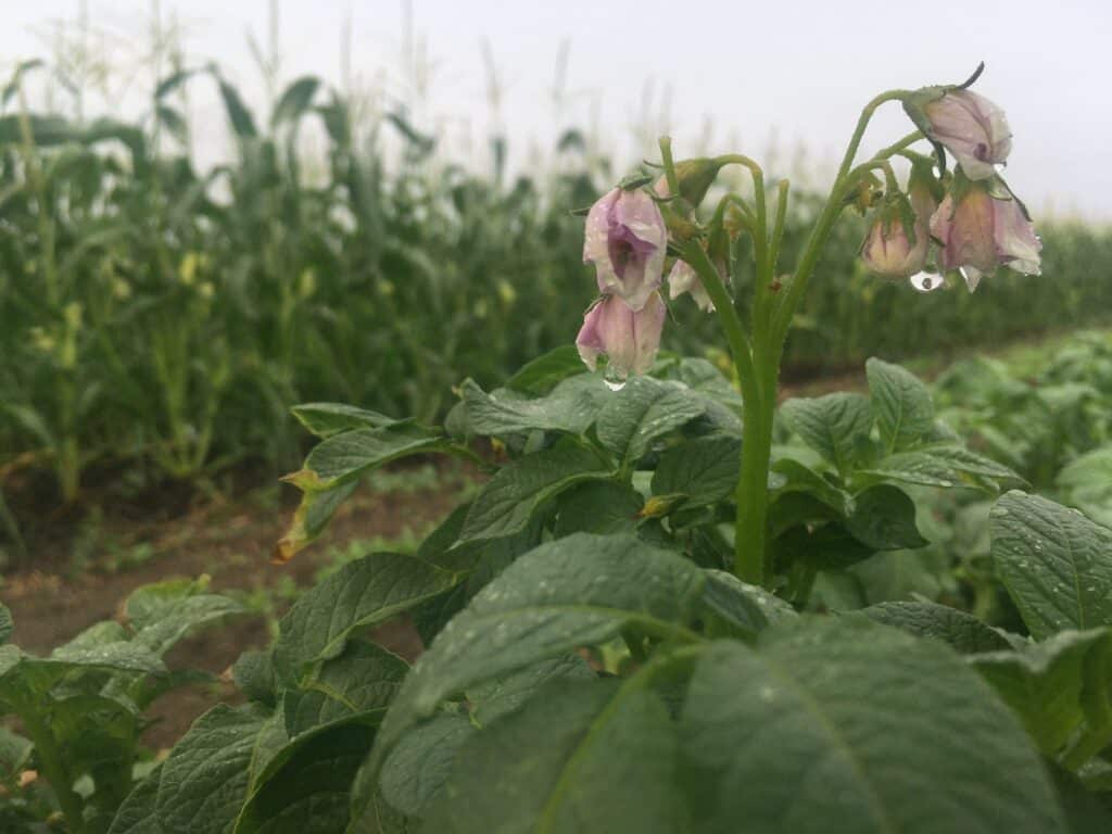
[{"label": "foreground potato plants with leaves, thick stalk and drooping flowers", "polygon": [[[147,659],[161,645],[148,636],[149,595],[175,634],[234,612],[162,586],[129,603],[130,627],[102,626],[49,658],[0,649],[0,701],[30,736],[10,746],[41,767],[63,824],[1108,831],[1112,529],[1030,492],[979,450],[983,431],[963,439],[942,398],[898,365],[871,359],[867,394],[776,408],[783,340],[851,195],[867,195],[874,271],[923,288],[1037,271],[1033,227],[996,171],[1007,122],[969,89],[975,79],[888,90],[865,107],[790,275],[777,268],[788,185],[768,211],[756,162],[674,162],[663,139],[656,186],[623,181],[587,215],[600,297],[576,348],[499,388],[465,381],[443,425],[298,407],[319,443],[288,477],[302,498],[279,560],[393,460],[476,459],[476,438],[500,454],[476,459],[489,478],[416,552],[367,555],[305,593],[272,644],[235,665],[246,703],[202,715],[153,767],[135,766],[130,734],[100,757],[81,732],[64,742],[70,724],[43,721],[38,705],[48,718],[76,696],[120,711],[103,701],[122,689],[136,703],[136,675],[167,681]],[[858,161],[871,117],[894,101],[916,129]],[[930,156],[913,149],[924,141]],[[902,153],[919,166],[906,186],[888,165]],[[758,187],[699,220],[725,165]],[[721,325],[732,378],[658,355],[668,258],[672,294],[689,292]],[[738,260],[755,276],[748,292]],[[883,572],[861,574],[919,559],[939,494],[993,499],[987,573],[955,562],[944,583],[923,570],[898,592]],[[850,582],[868,598],[840,595]],[[979,605],[979,583],[1002,604]],[[183,623],[173,613],[185,607],[206,613]],[[426,647],[411,666],[375,642],[399,617]],[[34,831],[41,811],[18,790],[7,810]]]}]

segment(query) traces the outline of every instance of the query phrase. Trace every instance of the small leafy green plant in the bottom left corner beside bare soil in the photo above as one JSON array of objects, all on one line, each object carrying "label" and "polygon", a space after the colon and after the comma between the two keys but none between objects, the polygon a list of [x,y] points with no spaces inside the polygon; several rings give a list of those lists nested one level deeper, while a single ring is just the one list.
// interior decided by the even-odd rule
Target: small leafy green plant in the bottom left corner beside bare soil
[{"label": "small leafy green plant in the bottom left corner beside bare soil", "polygon": [[123,613],[126,624],[97,623],[37,657],[8,643],[13,623],[0,605],[0,715],[17,717],[27,736],[0,731],[6,832],[40,831],[37,820],[59,815],[71,831],[107,831],[150,771],[139,744],[149,724],[143,712],[173,688],[209,679],[170,669],[162,656],[182,637],[244,609],[208,593],[202,578],[138,588]]}]

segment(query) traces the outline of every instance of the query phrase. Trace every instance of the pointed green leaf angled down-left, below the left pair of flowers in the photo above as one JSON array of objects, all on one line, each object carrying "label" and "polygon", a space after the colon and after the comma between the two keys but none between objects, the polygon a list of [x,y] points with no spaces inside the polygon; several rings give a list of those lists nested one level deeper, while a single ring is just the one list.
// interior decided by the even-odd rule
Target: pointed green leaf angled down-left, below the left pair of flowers
[{"label": "pointed green leaf angled down-left, below the left pair of flowers", "polygon": [[585,480],[613,475],[613,467],[598,453],[570,440],[526,455],[499,469],[486,483],[471,503],[459,542],[518,533],[549,498]]}]

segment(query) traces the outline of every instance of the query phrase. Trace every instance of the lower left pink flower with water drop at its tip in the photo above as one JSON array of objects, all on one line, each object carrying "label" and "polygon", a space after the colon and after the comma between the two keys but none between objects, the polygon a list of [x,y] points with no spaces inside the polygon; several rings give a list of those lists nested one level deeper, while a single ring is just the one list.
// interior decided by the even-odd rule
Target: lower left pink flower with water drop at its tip
[{"label": "lower left pink flower with water drop at its tip", "polygon": [[664,299],[649,294],[645,306],[634,310],[618,296],[606,296],[583,317],[575,339],[579,357],[594,370],[599,355],[607,359],[607,376],[623,380],[653,367],[664,329]]}]

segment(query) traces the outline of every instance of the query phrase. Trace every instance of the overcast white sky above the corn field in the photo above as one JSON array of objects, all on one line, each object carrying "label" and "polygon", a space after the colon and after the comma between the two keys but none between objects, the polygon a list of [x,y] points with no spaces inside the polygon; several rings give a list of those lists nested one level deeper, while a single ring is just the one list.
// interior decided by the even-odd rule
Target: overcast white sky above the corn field
[{"label": "overcast white sky above the corn field", "polygon": [[[267,47],[269,0],[87,0],[95,44],[107,44],[113,63],[138,79],[126,95],[117,82],[108,107],[138,109],[149,93],[142,56],[159,4],[163,24],[181,27],[191,61],[218,60],[249,98],[262,100],[247,32]],[[405,0],[277,4],[286,80],[312,72],[338,82],[349,18],[356,87],[407,95]],[[79,0],[0,0],[0,62],[49,54],[50,22],[68,21],[75,31],[79,7]],[[1036,210],[1112,219],[1109,0],[1059,0],[1053,10],[1045,0],[411,0],[411,7],[414,40],[431,68],[421,99],[426,123],[435,117],[464,156],[470,137],[471,161],[500,122],[518,162],[530,142],[550,147],[564,127],[594,123],[623,162],[648,152],[637,129],[649,128],[672,132],[681,155],[686,147],[764,156],[775,141],[786,153],[802,145],[813,163],[828,163],[875,92],[960,81],[984,60],[976,89],[1007,111],[1015,135],[1012,187]],[[497,113],[488,103],[484,41],[503,85]],[[567,96],[557,111],[552,90],[564,42]],[[888,107],[866,147],[906,132],[898,105]],[[200,151],[218,155],[222,115],[200,92],[193,108],[210,126]]]}]

